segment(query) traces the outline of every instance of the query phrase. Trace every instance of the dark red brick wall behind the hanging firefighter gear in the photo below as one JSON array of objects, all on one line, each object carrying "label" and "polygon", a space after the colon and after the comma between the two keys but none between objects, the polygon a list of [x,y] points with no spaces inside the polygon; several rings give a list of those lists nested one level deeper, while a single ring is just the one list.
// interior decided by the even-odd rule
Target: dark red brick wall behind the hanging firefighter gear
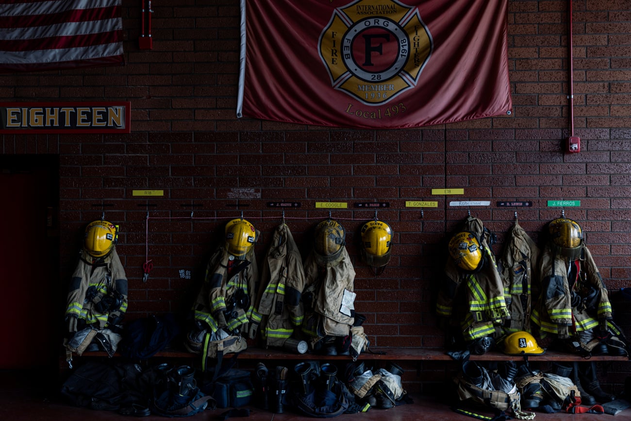
[{"label": "dark red brick wall behind the hanging firefighter gear", "polygon": [[[281,221],[281,211],[267,203],[300,202],[285,215],[306,255],[310,230],[328,216],[315,203],[341,201],[348,210],[332,216],[348,232],[356,306],[368,316],[373,345],[440,347],[432,292],[445,235],[471,211],[502,240],[516,209],[496,201],[533,201],[517,211],[537,239],[543,225],[561,215],[548,200],[580,200],[565,215],[582,224],[611,294],[628,285],[631,2],[573,2],[577,154],[563,147],[570,134],[567,3],[509,2],[511,116],[372,131],[237,120],[237,2],[156,3],[154,48],[139,50],[139,6],[124,1],[126,66],[0,75],[0,98],[128,100],[132,133],[5,135],[2,153],[60,157],[64,278],[74,268],[77,233],[86,223],[104,211],[121,225],[117,250],[129,276],[130,316],[186,309],[223,225],[241,212],[262,232],[260,258]],[[448,187],[464,188],[457,200],[492,205],[455,208],[448,205],[453,197],[431,194]],[[138,199],[134,189],[163,189],[164,196]],[[408,200],[438,206],[422,212],[406,208]],[[396,233],[391,264],[378,277],[357,249],[357,230],[374,212],[353,208],[372,201],[390,204],[378,216]],[[147,242],[155,268],[143,283]]]}]

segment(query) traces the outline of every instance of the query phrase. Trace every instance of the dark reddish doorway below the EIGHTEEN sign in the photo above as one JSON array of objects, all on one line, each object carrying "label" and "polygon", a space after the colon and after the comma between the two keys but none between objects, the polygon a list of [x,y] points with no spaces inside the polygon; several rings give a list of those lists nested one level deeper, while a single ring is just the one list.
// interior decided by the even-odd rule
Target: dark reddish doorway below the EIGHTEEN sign
[{"label": "dark reddish doorway below the EIGHTEEN sign", "polygon": [[56,366],[59,309],[59,157],[0,155],[0,369]]}]

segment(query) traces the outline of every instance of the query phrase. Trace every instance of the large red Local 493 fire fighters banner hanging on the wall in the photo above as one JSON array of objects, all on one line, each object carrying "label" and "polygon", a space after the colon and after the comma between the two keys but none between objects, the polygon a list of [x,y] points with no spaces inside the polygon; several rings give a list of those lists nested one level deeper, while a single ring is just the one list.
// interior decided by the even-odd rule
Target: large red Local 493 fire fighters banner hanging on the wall
[{"label": "large red Local 493 fire fighters banner hanging on the wall", "polygon": [[404,128],[510,114],[507,0],[241,0],[237,116]]}]

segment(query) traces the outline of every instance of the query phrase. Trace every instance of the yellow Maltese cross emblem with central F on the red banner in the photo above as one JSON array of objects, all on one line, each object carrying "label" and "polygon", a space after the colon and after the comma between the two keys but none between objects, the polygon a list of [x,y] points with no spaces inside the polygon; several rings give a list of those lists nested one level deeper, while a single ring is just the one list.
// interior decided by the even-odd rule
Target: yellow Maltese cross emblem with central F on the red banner
[{"label": "yellow Maltese cross emblem with central F on the red banner", "polygon": [[319,47],[333,88],[380,105],[416,86],[433,42],[418,9],[358,0],[335,9]]}]

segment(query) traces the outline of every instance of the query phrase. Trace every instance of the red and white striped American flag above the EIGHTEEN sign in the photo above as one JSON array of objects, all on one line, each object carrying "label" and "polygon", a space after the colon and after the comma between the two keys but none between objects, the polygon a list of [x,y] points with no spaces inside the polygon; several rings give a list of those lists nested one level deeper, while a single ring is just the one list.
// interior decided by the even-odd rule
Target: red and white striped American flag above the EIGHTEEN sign
[{"label": "red and white striped American flag above the EIGHTEEN sign", "polygon": [[0,72],[124,64],[122,0],[0,0]]}]

